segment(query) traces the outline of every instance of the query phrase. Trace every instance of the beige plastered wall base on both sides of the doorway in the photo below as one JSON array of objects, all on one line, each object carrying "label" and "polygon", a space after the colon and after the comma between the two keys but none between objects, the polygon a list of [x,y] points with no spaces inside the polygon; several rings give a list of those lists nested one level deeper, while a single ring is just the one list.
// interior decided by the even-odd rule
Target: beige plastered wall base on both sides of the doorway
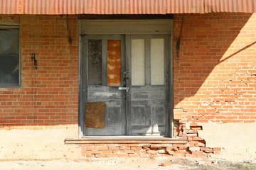
[{"label": "beige plastered wall base on both sides of the doorway", "polygon": [[[221,147],[212,157],[230,161],[256,162],[256,123],[202,123],[198,136],[206,147]],[[65,138],[78,138],[78,126],[48,130],[0,130],[0,160],[80,159],[78,145],[65,145]]]}]

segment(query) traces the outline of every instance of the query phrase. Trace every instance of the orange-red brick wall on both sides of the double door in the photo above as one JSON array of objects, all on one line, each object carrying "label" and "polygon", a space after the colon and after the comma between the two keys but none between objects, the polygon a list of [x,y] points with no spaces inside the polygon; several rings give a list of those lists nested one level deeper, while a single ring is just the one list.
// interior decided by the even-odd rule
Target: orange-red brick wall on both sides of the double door
[{"label": "orange-red brick wall on both sides of the double door", "polygon": [[[174,45],[183,14],[174,15]],[[78,18],[0,16],[21,22],[21,88],[0,89],[0,125],[78,123]],[[186,14],[174,47],[174,116],[181,122],[255,122],[255,16]],[[250,46],[251,45],[251,46]],[[38,69],[33,69],[31,53]]]}]

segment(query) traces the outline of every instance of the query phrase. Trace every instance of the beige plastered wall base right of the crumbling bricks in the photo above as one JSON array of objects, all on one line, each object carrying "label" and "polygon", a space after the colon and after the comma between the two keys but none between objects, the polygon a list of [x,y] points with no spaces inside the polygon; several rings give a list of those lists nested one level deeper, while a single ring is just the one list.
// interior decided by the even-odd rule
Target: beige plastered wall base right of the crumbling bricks
[{"label": "beige plastered wall base right of the crumbling bricks", "polygon": [[222,159],[256,162],[256,123],[201,123],[198,136],[206,140],[206,147],[221,147]]}]

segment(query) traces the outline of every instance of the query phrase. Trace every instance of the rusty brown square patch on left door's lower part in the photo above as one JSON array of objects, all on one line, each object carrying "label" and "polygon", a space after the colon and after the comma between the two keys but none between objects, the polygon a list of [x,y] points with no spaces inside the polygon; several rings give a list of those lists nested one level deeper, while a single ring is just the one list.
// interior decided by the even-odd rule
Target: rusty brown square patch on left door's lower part
[{"label": "rusty brown square patch on left door's lower part", "polygon": [[105,128],[106,103],[85,103],[85,128]]}]

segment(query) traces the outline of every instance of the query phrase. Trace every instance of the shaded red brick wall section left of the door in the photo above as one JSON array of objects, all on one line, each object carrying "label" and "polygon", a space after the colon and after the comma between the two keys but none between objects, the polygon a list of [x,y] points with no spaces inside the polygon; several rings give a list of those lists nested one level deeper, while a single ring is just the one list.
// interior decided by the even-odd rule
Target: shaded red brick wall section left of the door
[{"label": "shaded red brick wall section left of the door", "polygon": [[[0,89],[0,126],[78,124],[78,18],[0,16],[20,21],[21,88]],[[36,53],[34,69],[31,53]]]}]

